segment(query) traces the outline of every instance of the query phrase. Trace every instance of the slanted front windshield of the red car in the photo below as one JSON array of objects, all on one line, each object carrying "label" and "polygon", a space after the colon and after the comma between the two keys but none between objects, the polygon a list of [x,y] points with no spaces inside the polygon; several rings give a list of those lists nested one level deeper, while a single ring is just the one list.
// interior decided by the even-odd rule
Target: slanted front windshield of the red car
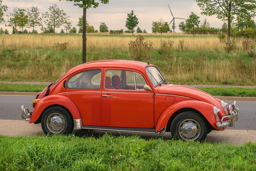
[{"label": "slanted front windshield of the red car", "polygon": [[165,84],[165,78],[163,78],[157,67],[148,66],[146,68],[146,73],[154,87],[156,87],[160,83]]}]

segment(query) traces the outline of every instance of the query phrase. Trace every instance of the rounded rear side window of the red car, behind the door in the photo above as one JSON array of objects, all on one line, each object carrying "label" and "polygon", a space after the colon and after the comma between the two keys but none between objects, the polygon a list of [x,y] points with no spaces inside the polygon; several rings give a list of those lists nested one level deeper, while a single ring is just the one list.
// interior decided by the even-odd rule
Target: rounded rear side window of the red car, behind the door
[{"label": "rounded rear side window of the red car, behind the door", "polygon": [[67,81],[70,89],[99,89],[101,87],[101,70],[80,72]]}]

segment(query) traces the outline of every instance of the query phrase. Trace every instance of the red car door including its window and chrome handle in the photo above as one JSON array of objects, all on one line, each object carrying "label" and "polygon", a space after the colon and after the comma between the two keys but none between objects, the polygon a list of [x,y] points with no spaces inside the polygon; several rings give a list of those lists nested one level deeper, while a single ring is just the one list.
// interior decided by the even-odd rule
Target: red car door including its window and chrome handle
[{"label": "red car door including its window and chrome handle", "polygon": [[153,128],[153,91],[143,89],[145,76],[135,70],[105,68],[103,77],[102,126]]}]

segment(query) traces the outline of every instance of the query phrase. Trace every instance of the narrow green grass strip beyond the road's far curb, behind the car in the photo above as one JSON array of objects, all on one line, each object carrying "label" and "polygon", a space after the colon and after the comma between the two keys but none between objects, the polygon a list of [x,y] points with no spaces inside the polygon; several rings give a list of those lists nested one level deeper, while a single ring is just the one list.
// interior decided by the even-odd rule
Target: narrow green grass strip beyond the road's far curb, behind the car
[{"label": "narrow green grass strip beyond the road's far curb, behind the car", "polygon": [[[0,91],[39,92],[45,87],[46,85],[35,84],[0,84]],[[256,88],[202,87],[197,89],[205,91],[213,96],[256,97]]]}]

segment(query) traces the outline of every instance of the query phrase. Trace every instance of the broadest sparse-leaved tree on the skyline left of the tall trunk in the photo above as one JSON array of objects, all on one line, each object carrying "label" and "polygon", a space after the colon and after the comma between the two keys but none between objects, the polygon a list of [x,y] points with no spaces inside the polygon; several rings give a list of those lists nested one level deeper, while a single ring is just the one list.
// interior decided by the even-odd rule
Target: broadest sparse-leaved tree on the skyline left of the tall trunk
[{"label": "broadest sparse-leaved tree on the skyline left of the tall trunk", "polygon": [[66,13],[59,9],[58,5],[53,4],[48,8],[49,12],[43,13],[43,19],[47,26],[53,27],[53,32],[55,34],[55,28],[61,27],[63,24],[65,24],[67,18],[69,16],[66,15]]}]

